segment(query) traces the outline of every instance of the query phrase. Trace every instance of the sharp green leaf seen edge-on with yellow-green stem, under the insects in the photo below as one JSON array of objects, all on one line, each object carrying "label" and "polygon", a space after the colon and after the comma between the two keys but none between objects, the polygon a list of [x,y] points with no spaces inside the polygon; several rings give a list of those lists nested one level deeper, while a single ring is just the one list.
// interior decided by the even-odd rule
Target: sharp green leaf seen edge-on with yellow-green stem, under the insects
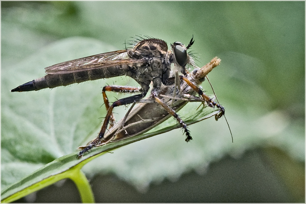
[{"label": "sharp green leaf seen edge-on with yellow-green stem, under the insects", "polygon": [[[207,119],[215,115],[218,112],[219,110],[214,110],[213,108],[202,108],[202,110],[186,118],[185,121],[187,124],[197,123],[201,120]],[[170,126],[161,129],[161,127],[165,126],[165,124],[168,124]],[[116,149],[118,147],[128,145],[130,143],[137,142],[155,136],[157,134],[162,134],[170,130],[179,128],[179,125],[175,124],[173,119],[170,119],[170,122],[168,123],[165,122],[165,124],[162,123],[159,126],[155,127],[150,133],[136,135],[134,137],[121,139],[120,141],[111,142],[107,145],[97,147],[94,151],[86,154],[81,159],[76,159],[78,152],[60,157],[43,166],[42,168],[39,168],[37,171],[31,173],[30,175],[21,179],[17,183],[14,183],[4,189],[1,194],[2,202],[12,202],[64,178],[73,178],[73,180],[76,182],[76,185],[78,186],[80,183],[78,182],[78,179],[80,179],[80,173],[78,172],[80,172],[80,169],[84,166],[84,164],[91,161],[95,157],[100,156],[101,154]],[[77,171],[74,171],[75,168],[77,169]],[[79,190],[82,197],[82,193],[84,192],[82,191],[82,189]],[[88,196],[83,195],[83,197],[87,198]],[[86,202],[87,200],[83,201]]]}]

